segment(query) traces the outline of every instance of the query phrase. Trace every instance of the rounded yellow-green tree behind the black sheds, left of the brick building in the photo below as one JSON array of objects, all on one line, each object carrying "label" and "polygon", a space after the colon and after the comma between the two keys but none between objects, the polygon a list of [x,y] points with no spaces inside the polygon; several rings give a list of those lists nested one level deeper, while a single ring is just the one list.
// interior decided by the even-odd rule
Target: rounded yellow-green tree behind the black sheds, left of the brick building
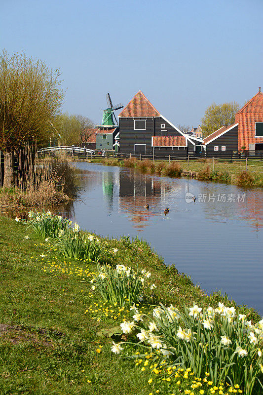
[{"label": "rounded yellow-green tree behind the black sheds, left of the brick building", "polygon": [[201,119],[203,132],[208,136],[224,125],[231,125],[235,122],[235,114],[238,110],[239,104],[236,102],[211,104]]}]

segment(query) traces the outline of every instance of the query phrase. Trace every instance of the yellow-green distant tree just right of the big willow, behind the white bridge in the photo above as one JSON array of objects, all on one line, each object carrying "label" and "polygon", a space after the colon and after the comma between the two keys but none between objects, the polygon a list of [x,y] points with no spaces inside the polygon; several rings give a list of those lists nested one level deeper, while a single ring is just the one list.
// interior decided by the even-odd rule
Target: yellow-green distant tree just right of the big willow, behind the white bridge
[{"label": "yellow-green distant tree just right of the big willow, behind the white bridge", "polygon": [[80,124],[75,115],[69,113],[60,114],[55,122],[54,129],[57,132],[55,140],[60,140],[62,145],[77,145],[79,141]]}]

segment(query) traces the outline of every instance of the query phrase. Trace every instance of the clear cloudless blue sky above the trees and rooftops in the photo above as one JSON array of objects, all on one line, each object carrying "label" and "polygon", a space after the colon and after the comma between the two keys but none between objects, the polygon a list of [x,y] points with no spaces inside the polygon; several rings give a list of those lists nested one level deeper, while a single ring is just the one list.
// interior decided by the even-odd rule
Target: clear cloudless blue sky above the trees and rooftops
[{"label": "clear cloudless blue sky above the trees and rooftops", "polygon": [[2,0],[1,48],[60,68],[63,111],[96,123],[141,89],[175,124],[263,86],[263,0]]}]

